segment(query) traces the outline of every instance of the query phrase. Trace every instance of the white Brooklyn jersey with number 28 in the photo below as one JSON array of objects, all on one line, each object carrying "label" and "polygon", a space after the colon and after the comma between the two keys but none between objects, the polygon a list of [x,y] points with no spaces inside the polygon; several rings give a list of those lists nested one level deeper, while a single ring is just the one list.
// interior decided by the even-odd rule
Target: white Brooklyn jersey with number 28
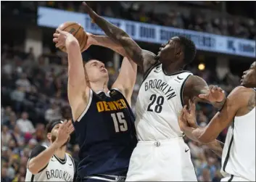
[{"label": "white Brooklyn jersey with number 28", "polygon": [[157,64],[146,75],[136,102],[136,131],[139,140],[164,140],[183,136],[178,115],[183,108],[183,87],[192,73],[165,74]]}]

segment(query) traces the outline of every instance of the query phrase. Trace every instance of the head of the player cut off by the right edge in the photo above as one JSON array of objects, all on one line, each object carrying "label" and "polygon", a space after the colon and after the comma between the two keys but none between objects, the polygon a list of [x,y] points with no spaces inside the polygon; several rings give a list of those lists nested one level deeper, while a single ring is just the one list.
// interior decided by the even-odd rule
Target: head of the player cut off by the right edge
[{"label": "head of the player cut off by the right edge", "polygon": [[248,88],[256,88],[256,62],[253,62],[241,77],[241,85]]}]

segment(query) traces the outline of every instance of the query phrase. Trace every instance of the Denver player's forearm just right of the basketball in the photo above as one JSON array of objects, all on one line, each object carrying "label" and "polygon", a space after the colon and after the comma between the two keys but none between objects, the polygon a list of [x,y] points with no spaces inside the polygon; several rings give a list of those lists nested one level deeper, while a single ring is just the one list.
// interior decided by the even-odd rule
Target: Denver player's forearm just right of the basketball
[{"label": "Denver player's forearm just right of the basketball", "polygon": [[123,57],[127,57],[125,53],[125,49],[123,49],[123,46],[121,46],[120,44],[117,44],[115,41],[112,41],[110,37],[91,35],[91,38],[93,39],[92,45],[104,46],[106,48],[112,49],[113,51],[117,52]]}]

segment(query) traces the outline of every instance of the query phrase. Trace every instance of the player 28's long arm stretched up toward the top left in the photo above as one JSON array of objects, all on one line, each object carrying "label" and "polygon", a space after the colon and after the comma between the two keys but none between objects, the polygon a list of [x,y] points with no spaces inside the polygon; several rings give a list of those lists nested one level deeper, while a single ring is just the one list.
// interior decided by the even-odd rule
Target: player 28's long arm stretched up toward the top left
[{"label": "player 28's long arm stretched up toward the top left", "polygon": [[[126,56],[136,62],[137,65],[143,67],[144,72],[149,69],[156,62],[154,56],[151,56],[152,53],[149,51],[143,51],[141,47],[136,44],[133,39],[128,36],[125,31],[113,25],[112,23],[105,20],[103,17],[99,16],[94,12],[88,5],[83,2],[83,5],[86,8],[86,12],[91,17],[91,20],[95,22],[107,36],[112,38],[113,41],[117,42],[123,46],[125,49]],[[150,54],[145,57],[145,54],[149,52]]]}]

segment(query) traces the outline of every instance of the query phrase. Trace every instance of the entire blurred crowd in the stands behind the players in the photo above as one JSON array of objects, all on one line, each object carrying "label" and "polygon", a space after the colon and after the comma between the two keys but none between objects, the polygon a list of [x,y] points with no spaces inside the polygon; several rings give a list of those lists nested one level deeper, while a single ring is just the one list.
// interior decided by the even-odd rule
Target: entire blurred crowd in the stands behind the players
[{"label": "entire blurred crowd in the stands behind the players", "polygon": [[[16,15],[22,12],[33,12],[37,3],[41,6],[84,12],[80,1],[20,1],[17,3],[19,5],[7,4],[13,6],[12,13]],[[160,2],[152,2],[154,6],[151,6],[153,8],[151,10],[137,2],[110,1],[104,4],[104,2],[90,1],[88,3],[99,15],[107,17],[225,36],[255,38],[255,20],[249,18],[207,17],[203,12],[205,9],[183,11],[176,8],[175,11],[170,11],[165,4],[169,12],[164,10],[154,12],[154,7],[162,5]],[[115,4],[112,5],[112,3]],[[4,8],[2,5],[1,10]],[[12,45],[1,45],[1,181],[6,182],[25,181],[26,165],[31,149],[37,144],[48,144],[45,127],[50,120],[72,118],[67,101],[67,55],[60,51],[51,52],[52,45],[44,45],[43,54],[35,57],[33,48],[25,52],[23,46]],[[109,86],[111,86],[117,78],[118,70],[114,69],[112,60],[107,60],[105,66],[110,74]],[[186,69],[204,78],[208,84],[218,84],[227,91],[227,94],[239,84],[238,75],[228,72],[225,76],[219,77],[213,67],[199,70],[197,65],[191,65]],[[143,75],[138,73],[132,97],[133,112],[142,80]],[[207,125],[216,112],[217,109],[209,104],[197,104],[198,124]],[[225,140],[226,132],[227,130],[224,130],[220,133],[218,138],[220,141]],[[220,158],[207,149],[207,146],[202,146],[186,137],[185,141],[191,149],[198,180],[220,181]],[[79,147],[75,144],[74,136],[71,137],[67,148],[67,152],[78,161]]]}]

